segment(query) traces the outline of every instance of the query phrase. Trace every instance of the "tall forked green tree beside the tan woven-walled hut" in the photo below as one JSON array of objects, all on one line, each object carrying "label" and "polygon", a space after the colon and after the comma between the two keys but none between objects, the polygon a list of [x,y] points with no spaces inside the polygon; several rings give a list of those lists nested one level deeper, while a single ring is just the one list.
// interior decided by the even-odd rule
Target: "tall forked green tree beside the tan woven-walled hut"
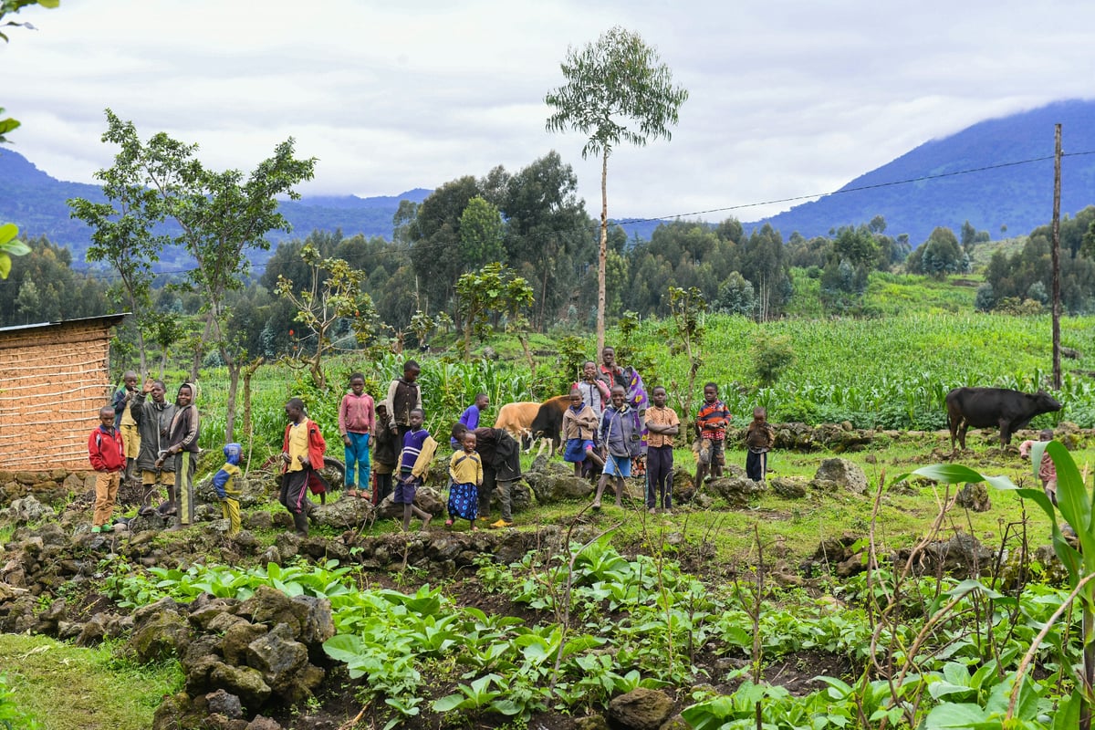
[{"label": "tall forked green tree beside the tan woven-walled hut", "polygon": [[200,298],[205,323],[191,378],[197,379],[205,345],[211,344],[228,369],[224,436],[232,440],[240,374],[247,354],[226,327],[227,297],[243,287],[250,270],[249,252],[269,248],[265,237],[269,231],[289,230],[288,221],[278,212],[276,196],[299,198],[293,188],[312,177],[315,160],[296,159],[293,140],[289,138],[247,176],[239,170],[216,172],[198,161],[196,144],[185,144],[164,132],[143,142],[132,124],[110,109],[106,117],[105,138],[132,159],[127,183],[155,190],[164,218],[182,229],[173,243],[196,263],[186,276],[186,285]]}]

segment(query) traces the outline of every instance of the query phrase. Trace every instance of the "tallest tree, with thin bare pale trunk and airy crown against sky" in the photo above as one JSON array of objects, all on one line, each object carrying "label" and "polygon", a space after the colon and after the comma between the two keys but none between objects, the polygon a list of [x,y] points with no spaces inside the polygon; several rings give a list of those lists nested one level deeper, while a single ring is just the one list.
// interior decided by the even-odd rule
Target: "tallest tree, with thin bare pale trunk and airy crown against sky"
[{"label": "tallest tree, with thin bare pale trunk and airy crown against sky", "polygon": [[672,71],[642,36],[612,27],[581,49],[568,48],[561,65],[566,83],[544,102],[553,107],[549,131],[586,135],[581,157],[601,158],[601,236],[598,255],[597,351],[604,346],[606,259],[608,257],[609,155],[621,142],[638,147],[670,139],[688,91],[676,85]]}]

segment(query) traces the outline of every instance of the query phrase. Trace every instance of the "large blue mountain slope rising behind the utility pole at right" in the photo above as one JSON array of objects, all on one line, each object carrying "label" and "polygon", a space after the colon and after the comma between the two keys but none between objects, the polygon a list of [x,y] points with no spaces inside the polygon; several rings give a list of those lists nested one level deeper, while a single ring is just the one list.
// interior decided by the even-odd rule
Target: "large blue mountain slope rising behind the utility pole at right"
[{"label": "large blue mountain slope rising behind the utility pole at right", "polygon": [[[786,241],[886,219],[889,235],[914,246],[937,225],[956,234],[965,221],[992,237],[1029,233],[1052,220],[1053,125],[1061,124],[1061,215],[1095,204],[1095,101],[1064,101],[988,119],[934,139],[837,193],[752,223],[770,223]],[[903,181],[913,181],[903,183]],[[902,183],[902,184],[895,184]]]}]

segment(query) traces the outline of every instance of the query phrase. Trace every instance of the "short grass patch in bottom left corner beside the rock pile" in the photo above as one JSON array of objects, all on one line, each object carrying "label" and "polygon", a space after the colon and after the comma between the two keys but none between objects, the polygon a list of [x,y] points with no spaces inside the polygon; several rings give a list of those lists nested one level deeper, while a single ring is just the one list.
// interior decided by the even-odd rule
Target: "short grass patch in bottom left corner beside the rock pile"
[{"label": "short grass patch in bottom left corner beside the rock pile", "polygon": [[182,671],[117,659],[116,648],[0,634],[0,667],[16,706],[44,730],[146,730],[163,696],[182,688]]}]

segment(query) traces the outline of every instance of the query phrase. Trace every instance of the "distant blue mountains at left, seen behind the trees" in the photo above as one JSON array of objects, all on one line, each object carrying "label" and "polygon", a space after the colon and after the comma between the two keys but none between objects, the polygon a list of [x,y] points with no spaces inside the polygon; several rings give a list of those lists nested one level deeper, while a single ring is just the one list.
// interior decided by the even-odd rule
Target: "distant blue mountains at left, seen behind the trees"
[{"label": "distant blue mountains at left, seen behind the trees", "polygon": [[[419,187],[397,196],[304,196],[300,200],[285,200],[280,210],[292,224],[292,231],[272,231],[267,237],[276,246],[279,241],[306,236],[315,229],[342,229],[346,235],[361,233],[391,239],[392,217],[400,201],[422,202],[430,193]],[[64,244],[72,252],[73,262],[82,262],[91,243],[91,229],[83,221],[69,218],[69,198],[105,199],[97,185],[56,179],[18,152],[0,149],[0,221],[16,223],[24,235],[45,235]],[[172,229],[164,225],[163,230]],[[269,252],[258,252],[252,263],[264,264],[269,256]],[[185,265],[184,258],[181,252],[165,252],[161,268],[180,268]]]}]

